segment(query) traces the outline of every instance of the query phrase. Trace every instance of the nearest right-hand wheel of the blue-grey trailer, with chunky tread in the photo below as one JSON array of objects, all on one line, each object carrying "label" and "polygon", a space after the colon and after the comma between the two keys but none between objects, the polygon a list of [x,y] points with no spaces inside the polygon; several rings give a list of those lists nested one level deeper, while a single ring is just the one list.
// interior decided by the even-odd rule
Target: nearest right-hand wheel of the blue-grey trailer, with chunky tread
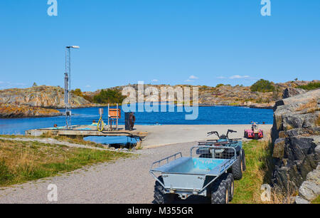
[{"label": "nearest right-hand wheel of the blue-grey trailer, with chunky tread", "polygon": [[211,191],[211,204],[228,204],[229,202],[229,187],[228,182],[219,180],[213,185]]}]

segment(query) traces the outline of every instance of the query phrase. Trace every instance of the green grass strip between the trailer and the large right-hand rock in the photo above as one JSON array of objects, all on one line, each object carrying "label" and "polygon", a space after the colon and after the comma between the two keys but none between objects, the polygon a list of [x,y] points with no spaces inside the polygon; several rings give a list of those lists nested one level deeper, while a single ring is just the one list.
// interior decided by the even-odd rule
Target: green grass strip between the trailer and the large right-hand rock
[{"label": "green grass strip between the trailer and the large right-hand rock", "polygon": [[244,142],[246,171],[242,180],[235,180],[233,204],[259,204],[260,187],[270,183],[272,169],[270,160],[272,149],[270,142],[251,140]]}]

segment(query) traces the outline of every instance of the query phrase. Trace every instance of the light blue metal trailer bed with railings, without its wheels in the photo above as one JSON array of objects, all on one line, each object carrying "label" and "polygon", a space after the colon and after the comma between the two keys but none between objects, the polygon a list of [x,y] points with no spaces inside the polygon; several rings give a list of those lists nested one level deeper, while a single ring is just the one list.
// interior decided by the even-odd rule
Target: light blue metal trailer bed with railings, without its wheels
[{"label": "light blue metal trailer bed with railings, without its wheels", "polygon": [[[202,149],[210,149],[211,152],[225,151],[230,156],[224,159],[193,157],[193,149],[197,149],[197,153]],[[178,152],[154,162],[150,174],[164,187],[166,194],[178,194],[181,199],[186,199],[191,194],[208,196],[208,187],[223,175],[236,159],[234,147],[195,146],[191,147],[190,157],[182,157],[181,152]],[[156,174],[160,174],[162,180],[159,180]]]}]

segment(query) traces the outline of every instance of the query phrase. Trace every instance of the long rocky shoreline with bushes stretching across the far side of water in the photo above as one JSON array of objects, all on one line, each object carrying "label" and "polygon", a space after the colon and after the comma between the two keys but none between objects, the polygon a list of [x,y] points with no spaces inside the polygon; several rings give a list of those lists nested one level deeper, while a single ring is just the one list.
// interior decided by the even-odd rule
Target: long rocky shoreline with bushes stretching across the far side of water
[{"label": "long rocky shoreline with bushes stretching across the far side of water", "polygon": [[[126,98],[126,96],[122,96],[122,89],[126,86],[106,88],[95,92],[82,92],[77,88],[71,93],[71,106],[72,108],[90,108],[107,105],[108,103],[122,103],[122,100]],[[138,90],[137,84],[129,84],[129,86]],[[161,87],[184,88],[195,85],[146,84],[144,86],[160,89]],[[273,108],[274,103],[282,99],[283,95],[289,96],[292,93],[296,95],[297,93],[305,93],[308,90],[320,88],[320,81],[295,80],[286,83],[273,83],[261,79],[250,86],[232,86],[228,84],[218,84],[215,87],[207,85],[196,86],[199,90],[199,105]],[[161,96],[159,96],[159,99],[161,99]],[[0,90],[0,118],[57,116],[61,115],[61,113],[55,109],[64,107],[64,89],[57,86],[33,85],[31,88]]]}]

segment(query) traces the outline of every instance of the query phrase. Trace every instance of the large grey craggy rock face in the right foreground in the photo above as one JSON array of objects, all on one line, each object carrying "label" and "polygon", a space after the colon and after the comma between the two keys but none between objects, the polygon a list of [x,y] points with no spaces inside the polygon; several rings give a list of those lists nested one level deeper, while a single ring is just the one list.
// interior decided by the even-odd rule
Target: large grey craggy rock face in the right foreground
[{"label": "large grey craggy rock face in the right foreground", "polygon": [[277,101],[272,127],[272,183],[299,190],[320,160],[320,89]]}]

